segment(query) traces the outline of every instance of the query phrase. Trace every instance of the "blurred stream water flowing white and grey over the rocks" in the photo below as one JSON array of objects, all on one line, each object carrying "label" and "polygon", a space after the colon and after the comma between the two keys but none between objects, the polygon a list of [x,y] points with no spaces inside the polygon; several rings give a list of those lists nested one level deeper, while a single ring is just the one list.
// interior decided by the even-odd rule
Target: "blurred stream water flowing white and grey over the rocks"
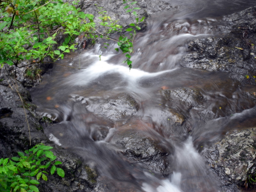
[{"label": "blurred stream water flowing white and grey over the rocks", "polygon": [[[179,66],[189,40],[218,34],[221,16],[255,1],[171,3],[178,9],[152,15],[147,31],[137,34],[131,70],[122,63],[124,55],[114,50],[115,44],[110,43],[108,49],[96,44],[92,50],[58,61],[86,69],[56,65],[32,90],[38,111],[55,119],[45,133],[96,168],[106,191],[219,191],[220,181],[205,165],[202,152],[226,132],[255,125],[255,103],[227,73]],[[202,95],[191,108],[186,94],[170,99],[175,90],[196,90]],[[120,97],[134,98],[136,107],[118,103]],[[122,114],[126,108],[130,112]],[[131,140],[137,143],[129,144],[127,133],[135,133]],[[128,145],[140,148],[145,138],[164,148],[164,170],[163,165],[157,169],[158,162],[139,163],[124,155]],[[152,146],[148,145],[150,154]]]}]

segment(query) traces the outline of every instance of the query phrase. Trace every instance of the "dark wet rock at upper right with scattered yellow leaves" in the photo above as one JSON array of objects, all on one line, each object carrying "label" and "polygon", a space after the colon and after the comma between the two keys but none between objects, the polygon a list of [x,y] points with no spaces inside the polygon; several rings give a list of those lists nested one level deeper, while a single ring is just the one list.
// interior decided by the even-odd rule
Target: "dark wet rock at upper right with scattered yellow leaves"
[{"label": "dark wet rock at upper right with scattered yellow leaves", "polygon": [[188,43],[188,53],[181,66],[209,71],[227,71],[228,76],[244,84],[256,84],[254,44],[256,7],[226,16],[224,36],[195,39]]}]

